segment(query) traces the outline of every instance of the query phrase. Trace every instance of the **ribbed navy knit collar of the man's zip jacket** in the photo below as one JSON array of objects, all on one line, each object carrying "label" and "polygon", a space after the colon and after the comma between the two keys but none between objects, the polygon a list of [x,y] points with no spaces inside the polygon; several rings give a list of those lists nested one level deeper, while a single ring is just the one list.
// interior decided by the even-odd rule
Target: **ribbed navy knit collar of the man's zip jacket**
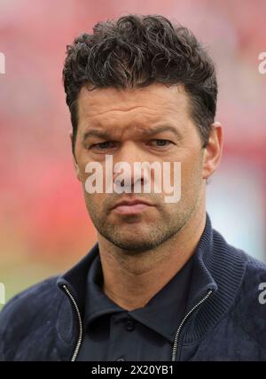
[{"label": "ribbed navy knit collar of the man's zip jacket", "polygon": [[[184,343],[191,344],[198,340],[207,329],[223,317],[230,308],[246,270],[246,254],[227,244],[223,236],[212,228],[208,214],[206,227],[200,243],[194,254],[192,280],[187,302],[187,310],[191,311],[209,290],[211,296],[204,302],[204,306],[197,309],[197,317],[193,318],[186,331]],[[82,319],[86,303],[87,279],[90,264],[98,255],[98,244],[64,275],[59,276],[57,284],[65,293],[71,293]],[[59,323],[66,324],[65,314],[59,318]]]}]

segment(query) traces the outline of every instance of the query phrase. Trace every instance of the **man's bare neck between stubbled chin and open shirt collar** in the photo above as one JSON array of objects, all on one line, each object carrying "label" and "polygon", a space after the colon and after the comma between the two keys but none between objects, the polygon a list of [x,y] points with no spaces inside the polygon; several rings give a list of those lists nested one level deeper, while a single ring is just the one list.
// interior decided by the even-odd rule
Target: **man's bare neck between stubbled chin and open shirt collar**
[{"label": "man's bare neck between stubbled chin and open shirt collar", "polygon": [[145,306],[192,257],[205,223],[204,208],[160,246],[133,255],[98,235],[103,290],[108,298],[128,311]]}]

